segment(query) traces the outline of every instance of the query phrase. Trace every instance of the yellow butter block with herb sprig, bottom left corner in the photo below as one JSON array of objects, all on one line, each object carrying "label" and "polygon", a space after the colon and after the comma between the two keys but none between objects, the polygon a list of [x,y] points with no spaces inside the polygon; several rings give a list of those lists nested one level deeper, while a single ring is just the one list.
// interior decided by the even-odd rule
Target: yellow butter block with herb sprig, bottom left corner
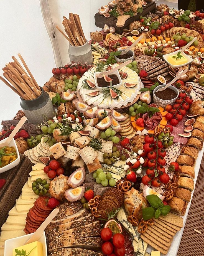
[{"label": "yellow butter block with herb sprig, bottom left corner", "polygon": [[29,253],[29,256],[43,256],[43,251],[42,251],[42,243],[40,242],[33,242],[33,243],[28,243],[27,245],[22,245],[20,247],[14,248],[13,249],[13,256],[16,255],[15,249],[17,250],[25,250],[26,254]]}]

